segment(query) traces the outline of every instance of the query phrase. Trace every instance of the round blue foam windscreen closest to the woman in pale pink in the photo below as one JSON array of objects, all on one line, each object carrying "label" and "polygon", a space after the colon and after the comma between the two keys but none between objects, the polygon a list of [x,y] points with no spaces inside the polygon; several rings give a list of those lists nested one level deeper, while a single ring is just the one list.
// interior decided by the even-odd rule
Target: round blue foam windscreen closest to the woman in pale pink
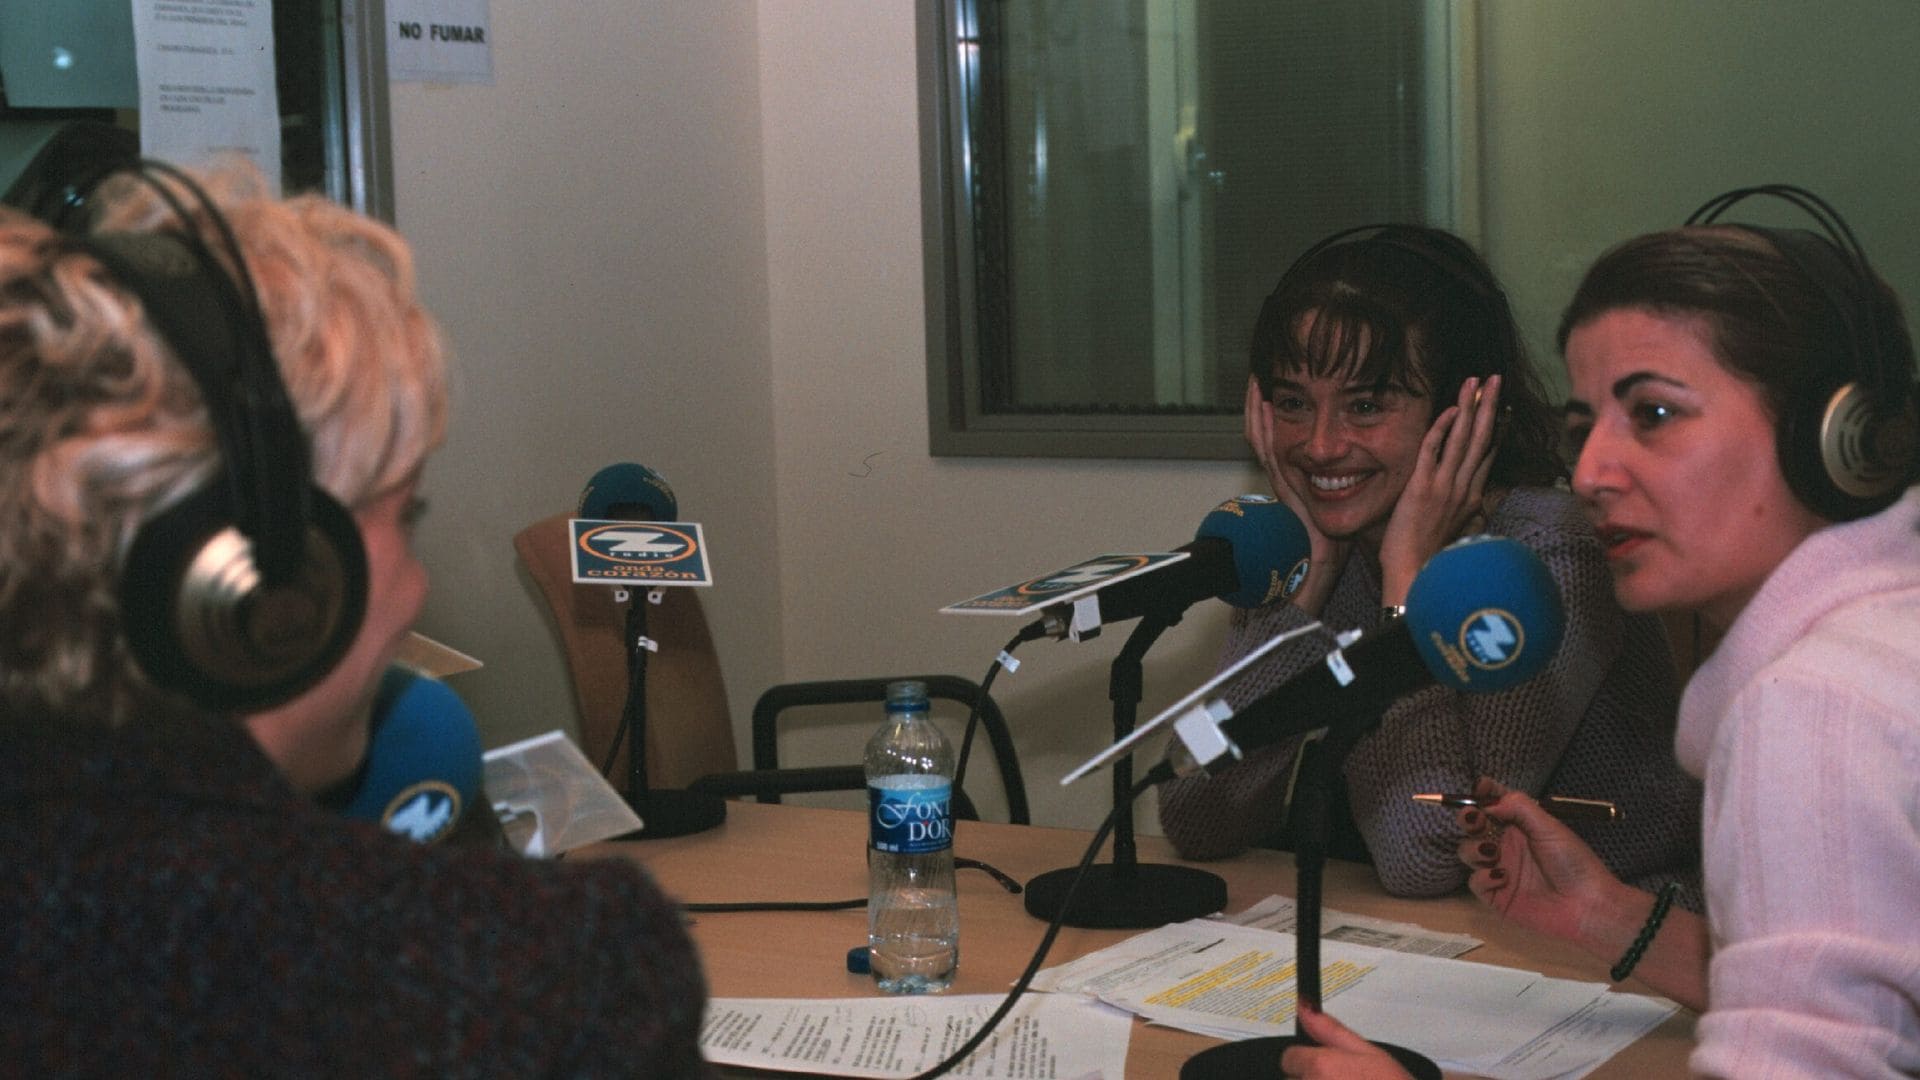
[{"label": "round blue foam windscreen closest to the woman in pale pink", "polygon": [[1490,694],[1538,675],[1567,615],[1540,555],[1503,536],[1442,548],[1407,588],[1407,630],[1442,686]]}]

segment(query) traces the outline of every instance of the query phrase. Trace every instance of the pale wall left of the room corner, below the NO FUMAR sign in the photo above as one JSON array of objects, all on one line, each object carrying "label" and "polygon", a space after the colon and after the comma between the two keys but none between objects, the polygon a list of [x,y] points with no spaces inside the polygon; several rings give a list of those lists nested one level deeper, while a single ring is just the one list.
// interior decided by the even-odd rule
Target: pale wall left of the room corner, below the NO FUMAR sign
[{"label": "pale wall left of the room corner, below the NO FUMAR sign", "polygon": [[780,675],[755,6],[492,6],[492,86],[394,86],[396,217],[455,346],[420,628],[490,744],[572,724],[513,534],[641,461],[712,542],[741,698]]}]

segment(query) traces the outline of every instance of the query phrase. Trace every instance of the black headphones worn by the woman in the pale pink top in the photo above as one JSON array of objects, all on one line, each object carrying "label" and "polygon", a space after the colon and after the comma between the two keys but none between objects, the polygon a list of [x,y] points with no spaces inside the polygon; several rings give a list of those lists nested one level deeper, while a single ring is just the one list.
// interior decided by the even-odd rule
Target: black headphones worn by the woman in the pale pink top
[{"label": "black headphones worn by the woman in the pale pink top", "polygon": [[[1899,342],[1901,313],[1880,288],[1866,252],[1845,219],[1820,196],[1791,184],[1759,184],[1716,194],[1688,225],[1715,225],[1734,204],[1772,196],[1818,223],[1753,233],[1814,284],[1843,329],[1832,356],[1818,356],[1818,380],[1805,402],[1782,409],[1774,446],[1793,496],[1828,521],[1878,513],[1914,482],[1920,417],[1914,411],[1914,357]],[[1891,352],[1891,356],[1889,356]]]}]

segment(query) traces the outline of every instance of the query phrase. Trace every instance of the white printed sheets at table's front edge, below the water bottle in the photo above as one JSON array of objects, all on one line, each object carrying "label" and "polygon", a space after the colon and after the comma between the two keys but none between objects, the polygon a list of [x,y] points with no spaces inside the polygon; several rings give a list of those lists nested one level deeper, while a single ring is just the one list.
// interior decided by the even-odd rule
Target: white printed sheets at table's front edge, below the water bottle
[{"label": "white printed sheets at table's front edge, below the water bottle", "polygon": [[[810,1076],[914,1076],[956,1051],[998,994],[714,997],[701,1053],[716,1065]],[[948,1076],[1121,1080],[1133,1017],[1073,995],[1029,994]]]}]

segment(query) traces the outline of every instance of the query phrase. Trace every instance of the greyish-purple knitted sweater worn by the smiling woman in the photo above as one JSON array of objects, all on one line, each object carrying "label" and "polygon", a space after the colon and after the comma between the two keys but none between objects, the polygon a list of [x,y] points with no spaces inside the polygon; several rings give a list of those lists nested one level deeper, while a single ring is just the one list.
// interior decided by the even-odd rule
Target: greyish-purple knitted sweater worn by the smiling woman
[{"label": "greyish-purple knitted sweater worn by the smiling woman", "polygon": [[[1659,619],[1626,615],[1594,530],[1572,494],[1509,492],[1486,532],[1526,544],[1559,582],[1567,634],[1538,676],[1501,694],[1428,686],[1386,709],[1348,755],[1354,824],[1380,884],[1396,896],[1440,896],[1467,880],[1450,811],[1415,792],[1467,792],[1486,774],[1534,796],[1613,799],[1622,819],[1576,824],[1622,880],[1657,888],[1680,880],[1680,901],[1699,909],[1699,784],[1674,763],[1678,701],[1672,653]],[[1365,557],[1348,561],[1321,621],[1331,628],[1380,623],[1380,582]],[[1292,603],[1236,611],[1223,667],[1311,619]],[[1332,630],[1281,646],[1229,686],[1240,707],[1332,650]],[[1275,844],[1300,740],[1248,753],[1217,776],[1171,780],[1160,790],[1160,824],[1188,859],[1221,859]]]}]

